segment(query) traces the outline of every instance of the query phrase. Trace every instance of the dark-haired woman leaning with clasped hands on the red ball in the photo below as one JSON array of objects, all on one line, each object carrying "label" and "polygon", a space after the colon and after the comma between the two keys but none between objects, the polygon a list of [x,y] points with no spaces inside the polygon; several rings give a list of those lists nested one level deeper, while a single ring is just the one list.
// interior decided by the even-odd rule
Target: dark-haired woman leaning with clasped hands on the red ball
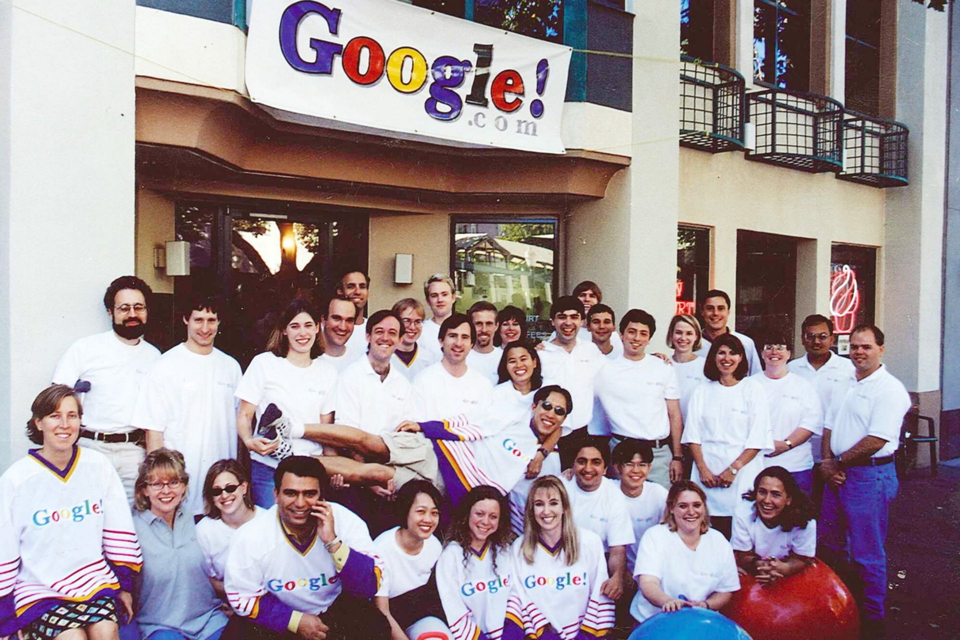
[{"label": "dark-haired woman leaning with clasped hands on the red ball", "polygon": [[770,466],[756,476],[733,516],[731,544],[740,571],[762,583],[786,578],[813,561],[813,506],[789,471]]}]

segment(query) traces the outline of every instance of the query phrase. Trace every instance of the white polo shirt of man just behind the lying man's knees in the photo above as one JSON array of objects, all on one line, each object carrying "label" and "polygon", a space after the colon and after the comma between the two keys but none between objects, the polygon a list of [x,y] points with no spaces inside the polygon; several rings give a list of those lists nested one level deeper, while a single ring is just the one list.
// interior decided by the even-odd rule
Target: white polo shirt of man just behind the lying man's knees
[{"label": "white polo shirt of man just behind the lying man's knees", "polygon": [[340,374],[336,394],[337,424],[374,436],[394,431],[414,415],[413,386],[393,361],[382,381],[370,358],[363,357]]}]

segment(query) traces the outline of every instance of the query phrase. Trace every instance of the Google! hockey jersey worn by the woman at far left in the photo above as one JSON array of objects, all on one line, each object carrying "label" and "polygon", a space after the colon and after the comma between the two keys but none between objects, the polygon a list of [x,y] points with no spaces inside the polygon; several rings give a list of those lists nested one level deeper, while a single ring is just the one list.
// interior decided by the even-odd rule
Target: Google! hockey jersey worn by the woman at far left
[{"label": "Google! hockey jersey worn by the woman at far left", "polygon": [[32,449],[0,477],[0,636],[58,602],[129,591],[143,558],[107,457],[74,446],[62,471]]}]

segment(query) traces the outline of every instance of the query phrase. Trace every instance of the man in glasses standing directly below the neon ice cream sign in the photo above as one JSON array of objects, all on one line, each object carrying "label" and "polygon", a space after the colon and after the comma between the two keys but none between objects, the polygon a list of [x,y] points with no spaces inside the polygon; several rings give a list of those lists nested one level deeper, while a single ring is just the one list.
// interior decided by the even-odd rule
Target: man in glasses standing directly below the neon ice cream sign
[{"label": "man in glasses standing directly below the neon ice cream sign", "polygon": [[[820,314],[807,316],[801,324],[801,338],[804,341],[806,355],[791,360],[786,367],[791,373],[796,373],[813,385],[817,395],[820,396],[820,404],[826,412],[833,403],[833,396],[846,391],[847,381],[853,375],[853,363],[832,351],[836,340],[833,335],[833,320]],[[823,436],[817,433],[810,438],[814,464],[814,495],[816,496],[823,491],[823,482],[817,473],[821,461],[822,441]]]}]

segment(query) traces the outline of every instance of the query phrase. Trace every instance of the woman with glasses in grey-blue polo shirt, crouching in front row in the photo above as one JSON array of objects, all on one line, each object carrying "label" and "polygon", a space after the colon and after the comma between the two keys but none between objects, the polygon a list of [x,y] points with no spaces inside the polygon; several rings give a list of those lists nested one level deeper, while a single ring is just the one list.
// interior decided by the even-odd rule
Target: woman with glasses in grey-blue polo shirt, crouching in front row
[{"label": "woman with glasses in grey-blue polo shirt, crouching in front row", "polygon": [[133,486],[133,525],[143,549],[134,622],[143,640],[219,640],[227,627],[206,579],[193,515],[183,510],[189,480],[183,454],[160,448],[140,463]]}]

